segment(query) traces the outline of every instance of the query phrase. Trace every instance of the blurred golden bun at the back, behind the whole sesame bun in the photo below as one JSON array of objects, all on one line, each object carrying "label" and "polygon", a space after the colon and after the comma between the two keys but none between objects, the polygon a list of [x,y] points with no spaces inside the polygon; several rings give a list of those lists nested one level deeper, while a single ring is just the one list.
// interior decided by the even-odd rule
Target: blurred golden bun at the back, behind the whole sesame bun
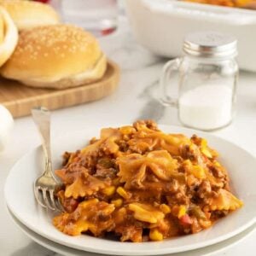
[{"label": "blurred golden bun at the back, behind the whole sesame bun", "polygon": [[0,0],[0,5],[9,12],[18,30],[34,26],[60,23],[60,18],[49,4],[26,0]]}]

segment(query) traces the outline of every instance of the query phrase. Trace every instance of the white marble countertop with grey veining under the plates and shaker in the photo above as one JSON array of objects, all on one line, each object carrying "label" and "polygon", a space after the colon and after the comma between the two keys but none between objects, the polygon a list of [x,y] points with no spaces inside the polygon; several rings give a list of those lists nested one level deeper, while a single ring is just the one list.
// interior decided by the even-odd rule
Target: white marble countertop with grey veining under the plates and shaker
[{"label": "white marble countertop with grey veining under the plates and shaker", "polygon": [[[52,113],[52,137],[62,132],[86,129],[88,125],[131,124],[136,119],[155,119],[160,124],[180,125],[177,111],[160,106],[156,90],[160,70],[166,60],[151,55],[131,36],[125,20],[119,31],[101,39],[108,57],[122,69],[118,90],[112,96]],[[234,122],[214,133],[256,156],[256,73],[241,72]],[[12,222],[3,199],[3,185],[15,161],[40,143],[31,117],[15,119],[15,130],[8,147],[0,153],[0,255],[58,255],[27,238]],[[256,172],[256,169],[255,169]],[[256,188],[255,188],[256,189]],[[255,255],[256,230],[240,243],[214,255]]]}]

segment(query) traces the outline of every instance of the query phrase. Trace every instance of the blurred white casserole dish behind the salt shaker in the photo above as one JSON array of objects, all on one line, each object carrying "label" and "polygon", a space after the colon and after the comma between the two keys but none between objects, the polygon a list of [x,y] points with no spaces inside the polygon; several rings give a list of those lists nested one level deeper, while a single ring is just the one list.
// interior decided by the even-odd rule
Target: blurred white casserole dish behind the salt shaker
[{"label": "blurred white casserole dish behind the salt shaker", "polygon": [[157,55],[182,55],[189,32],[227,32],[238,39],[241,69],[256,72],[256,10],[176,0],[125,0],[132,30],[140,44]]}]

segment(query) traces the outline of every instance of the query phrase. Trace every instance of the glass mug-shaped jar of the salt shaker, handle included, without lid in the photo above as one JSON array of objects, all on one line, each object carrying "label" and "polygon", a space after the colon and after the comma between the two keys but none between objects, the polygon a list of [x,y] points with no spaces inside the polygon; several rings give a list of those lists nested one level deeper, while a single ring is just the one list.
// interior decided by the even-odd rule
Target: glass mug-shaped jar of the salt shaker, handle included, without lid
[{"label": "glass mug-shaped jar of the salt shaker, handle included, without lid", "polygon": [[[178,92],[174,97],[168,94],[168,88],[177,71]],[[166,64],[161,79],[162,102],[177,107],[183,125],[212,131],[229,125],[233,119],[237,79],[233,57],[214,60],[186,55]]]}]

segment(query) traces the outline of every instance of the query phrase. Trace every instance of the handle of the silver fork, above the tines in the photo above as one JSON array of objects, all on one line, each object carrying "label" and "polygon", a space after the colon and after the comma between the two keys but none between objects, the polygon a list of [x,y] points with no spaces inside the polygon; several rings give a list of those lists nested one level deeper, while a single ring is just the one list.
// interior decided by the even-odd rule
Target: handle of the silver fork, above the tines
[{"label": "handle of the silver fork, above the tines", "polygon": [[45,156],[45,171],[44,174],[54,177],[51,166],[51,152],[50,152],[50,112],[47,108],[38,107],[32,108],[32,118],[38,126],[40,132],[44,156]]}]

